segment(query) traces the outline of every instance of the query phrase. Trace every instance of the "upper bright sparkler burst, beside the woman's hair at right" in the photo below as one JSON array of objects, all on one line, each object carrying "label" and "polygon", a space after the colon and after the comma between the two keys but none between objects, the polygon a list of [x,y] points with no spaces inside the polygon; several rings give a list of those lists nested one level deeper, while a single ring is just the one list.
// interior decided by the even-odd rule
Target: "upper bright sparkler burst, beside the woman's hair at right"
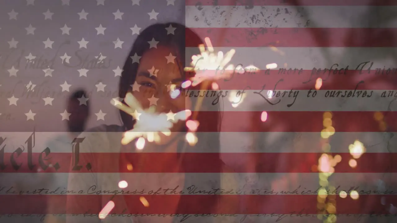
[{"label": "upper bright sparkler burst, beside the woman's hair at right", "polygon": [[207,45],[207,50],[205,50],[203,44],[200,44],[198,46],[200,54],[192,56],[191,65],[194,67],[185,67],[184,69],[185,71],[195,71],[196,75],[191,79],[193,87],[203,81],[216,81],[230,77],[235,68],[233,64],[229,64],[236,52],[234,49],[227,52],[225,56],[222,51],[216,55],[210,38],[206,37],[204,41]]}]

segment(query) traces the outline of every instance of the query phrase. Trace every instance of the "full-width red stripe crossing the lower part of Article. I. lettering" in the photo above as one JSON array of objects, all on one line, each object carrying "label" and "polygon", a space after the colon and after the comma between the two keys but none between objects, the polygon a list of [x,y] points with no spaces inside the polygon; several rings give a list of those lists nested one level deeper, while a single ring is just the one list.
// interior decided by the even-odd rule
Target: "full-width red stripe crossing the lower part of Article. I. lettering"
[{"label": "full-width red stripe crossing the lower part of Article. I. lettering", "polygon": [[[347,143],[347,142],[346,142]],[[350,142],[353,143],[353,142]],[[313,150],[320,151],[321,145],[312,145]],[[348,150],[349,144],[346,144]],[[18,164],[22,166],[15,170],[10,163],[11,153],[4,156],[5,164],[2,173],[36,173],[40,169],[39,153],[33,153],[33,167],[29,169],[27,164],[27,154],[24,153],[17,159]],[[222,153],[222,159],[225,160],[246,160],[255,162],[255,171],[258,173],[317,173],[315,167],[318,165],[318,159],[321,153]],[[336,154],[333,154],[335,156]],[[357,167],[349,166],[349,160],[353,157],[349,153],[339,154],[342,161],[335,166],[336,173],[397,173],[397,160],[395,153],[364,153],[357,159]],[[43,155],[44,156],[44,155]],[[80,170],[71,170],[71,153],[54,153],[48,157],[51,161],[44,161],[44,164],[51,162],[58,163],[59,169],[48,167],[45,171],[40,172],[57,172],[57,173],[249,173],[247,165],[235,166],[233,168],[221,168],[222,161],[218,153],[184,153],[181,157],[181,169],[175,169],[175,163],[179,160],[175,153],[80,153],[79,165]],[[114,165],[119,160],[120,168]],[[91,167],[87,164],[90,163]],[[99,163],[99,164],[98,164]],[[206,163],[205,165],[202,165]],[[283,165],[280,165],[283,163]],[[133,170],[127,169],[127,164],[132,164]],[[88,168],[87,168],[88,167]],[[90,168],[90,170],[89,170]]]}]

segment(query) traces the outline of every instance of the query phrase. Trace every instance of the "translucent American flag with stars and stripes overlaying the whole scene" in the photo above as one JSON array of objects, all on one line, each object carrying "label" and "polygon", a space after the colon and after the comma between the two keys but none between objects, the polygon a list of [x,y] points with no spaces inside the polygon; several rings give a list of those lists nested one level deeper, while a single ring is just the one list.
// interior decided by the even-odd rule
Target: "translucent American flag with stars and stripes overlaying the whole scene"
[{"label": "translucent American flag with stars and stripes overlaying the whole scene", "polygon": [[[0,6],[0,223],[396,221],[397,1]],[[183,87],[186,101],[209,101],[190,108],[190,132],[179,133],[202,146],[163,150],[143,136],[121,146],[123,66],[143,64],[131,46],[156,23],[185,25],[206,53],[235,51],[230,75]],[[158,48],[154,38],[143,44]],[[186,35],[186,66],[197,47]],[[71,108],[77,90],[86,93]],[[81,135],[68,128],[78,108],[88,108]]]}]

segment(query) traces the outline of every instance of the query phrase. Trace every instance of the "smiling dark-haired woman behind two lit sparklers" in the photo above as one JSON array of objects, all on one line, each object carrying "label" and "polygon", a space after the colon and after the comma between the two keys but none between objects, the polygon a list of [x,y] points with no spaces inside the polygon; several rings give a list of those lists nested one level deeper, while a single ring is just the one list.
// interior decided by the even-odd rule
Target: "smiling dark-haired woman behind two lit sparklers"
[{"label": "smiling dark-haired woman behind two lit sparklers", "polygon": [[[166,28],[172,26],[175,28],[173,34],[170,34]],[[158,43],[153,45],[149,44],[148,41],[155,40]],[[121,75],[119,83],[119,97],[125,98],[127,92],[132,92],[132,94],[137,98],[137,100],[142,104],[144,108],[148,108],[150,104],[156,105],[156,112],[158,113],[177,113],[186,109],[195,112],[195,104],[198,97],[188,97],[185,95],[185,91],[181,88],[181,83],[189,78],[189,75],[183,71],[184,67],[189,66],[185,64],[185,58],[187,62],[190,62],[191,56],[199,54],[198,48],[193,48],[185,51],[185,40],[195,43],[196,46],[202,44],[200,38],[193,33],[190,29],[177,23],[166,23],[166,24],[155,24],[147,27],[135,40],[131,52],[125,62],[123,67],[123,72]],[[137,56],[141,56],[139,62]],[[170,83],[176,85],[176,88],[180,91],[180,95],[175,98],[175,96],[170,96],[170,91],[168,86]],[[134,84],[138,84],[139,90],[133,89]],[[200,85],[195,89],[200,89]],[[154,98],[153,98],[154,97]],[[156,99],[158,100],[156,101]],[[122,133],[133,129],[136,120],[132,118],[131,115],[120,111],[121,120],[123,126],[99,126],[90,131],[81,134],[80,138],[84,138],[83,142],[79,144],[80,153],[90,153],[90,154],[80,154],[79,163],[82,168],[85,167],[85,163],[90,163],[93,169],[96,169],[94,173],[93,169],[88,171],[89,173],[71,173],[69,174],[68,190],[81,191],[84,194],[94,194],[96,191],[104,190],[121,190],[118,188],[118,183],[124,180],[128,183],[128,187],[124,188],[124,191],[137,191],[139,195],[140,191],[145,190],[146,192],[141,193],[141,196],[145,197],[145,193],[149,190],[154,190],[156,188],[163,187],[164,185],[169,186],[168,188],[174,189],[176,186],[177,190],[187,192],[187,187],[191,186],[193,181],[198,182],[197,179],[204,185],[205,189],[220,188],[220,175],[221,168],[223,167],[222,161],[220,161],[219,155],[216,160],[211,162],[212,169],[215,169],[215,173],[204,174],[205,179],[202,175],[197,175],[195,173],[184,174],[184,167],[189,165],[189,160],[184,158],[184,153],[189,151],[200,152],[207,151],[218,153],[220,149],[219,142],[219,127],[220,127],[220,117],[219,117],[219,105],[212,105],[213,97],[204,97],[201,111],[214,111],[210,113],[198,113],[197,120],[200,125],[197,129],[198,142],[194,147],[189,146],[185,143],[185,132],[187,131],[185,121],[179,121],[173,125],[171,131],[171,136],[162,135],[161,143],[155,144],[146,142],[145,148],[141,150],[142,152],[164,152],[162,159],[156,160],[156,163],[152,165],[160,166],[162,165],[164,169],[173,169],[173,173],[137,173],[140,168],[145,168],[145,166],[150,163],[149,160],[137,159],[137,156],[126,156],[121,154],[115,160],[108,157],[108,159],[98,159],[99,156],[94,156],[94,153],[98,152],[108,152],[116,154],[119,152],[140,152],[135,148],[135,142],[133,141],[127,146],[121,146]],[[205,115],[205,118],[203,116]],[[204,132],[206,131],[206,132]],[[82,156],[83,155],[83,156]],[[131,154],[130,154],[131,155]],[[94,158],[95,157],[95,158]],[[112,156],[114,157],[114,156]],[[191,160],[190,160],[191,161]],[[203,163],[204,165],[206,163]],[[141,169],[142,170],[142,169]],[[99,172],[99,173],[98,173]],[[101,173],[102,172],[102,173]],[[108,172],[108,173],[104,173]],[[127,173],[126,173],[127,172]],[[129,172],[129,173],[128,173]],[[135,173],[134,173],[135,172]],[[121,173],[121,174],[118,174]],[[131,174],[133,173],[133,174]],[[176,185],[176,186],[175,186]],[[88,190],[88,192],[87,192]],[[76,193],[77,194],[77,193]],[[99,194],[101,194],[99,192]],[[103,193],[102,193],[103,194]],[[105,193],[106,194],[106,193]],[[107,195],[112,195],[107,193]],[[181,211],[186,213],[187,200],[185,197],[180,195],[172,195],[173,204],[167,203],[162,204],[167,210],[173,210],[174,213],[181,213]],[[87,206],[91,210],[101,210],[110,200],[109,196],[90,196],[89,202],[85,200],[86,198],[79,198],[79,196],[68,196],[67,198],[67,208],[68,213],[72,213],[74,210],[87,210]],[[113,198],[115,203],[115,208],[111,213],[137,213],[142,210],[143,205],[139,198],[131,198],[128,196],[118,195]],[[191,198],[189,198],[191,199]],[[89,204],[87,204],[89,203]],[[208,210],[213,210],[218,203],[218,197],[212,196],[209,201],[206,201],[206,208]],[[139,205],[138,205],[139,204]],[[150,204],[149,204],[150,205]],[[154,205],[154,204],[152,204]],[[189,204],[193,208],[188,208],[189,210],[195,210],[194,207],[199,207],[198,205],[203,204]],[[213,207],[213,208],[212,208]],[[145,209],[144,209],[145,210]],[[146,209],[148,210],[148,209]],[[127,217],[127,215],[112,217],[108,216],[102,220],[102,222],[174,222],[180,221],[177,217],[165,216],[132,216]],[[194,218],[190,218],[189,221],[192,222]],[[216,218],[211,219],[216,221]],[[69,216],[68,222],[100,222],[98,217],[76,217]],[[200,222],[200,218],[196,218],[195,221]],[[208,221],[208,219],[205,219]],[[193,221],[194,222],[194,221]],[[201,221],[202,222],[202,221]]]}]

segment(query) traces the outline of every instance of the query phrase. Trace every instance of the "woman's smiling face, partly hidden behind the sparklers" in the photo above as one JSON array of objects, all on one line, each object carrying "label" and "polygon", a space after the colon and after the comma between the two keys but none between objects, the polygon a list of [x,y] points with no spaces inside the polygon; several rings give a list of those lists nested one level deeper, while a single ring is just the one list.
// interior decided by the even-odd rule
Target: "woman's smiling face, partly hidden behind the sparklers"
[{"label": "woman's smiling face, partly hidden behind the sparklers", "polygon": [[[191,102],[185,97],[185,91],[181,88],[181,84],[185,81],[181,73],[183,65],[176,58],[176,54],[165,46],[151,48],[143,54],[135,79],[141,86],[139,91],[133,91],[133,95],[143,108],[156,106],[157,113],[191,110]],[[172,88],[172,85],[175,88]],[[184,125],[184,121],[179,121],[173,125],[171,131],[180,132]]]}]

